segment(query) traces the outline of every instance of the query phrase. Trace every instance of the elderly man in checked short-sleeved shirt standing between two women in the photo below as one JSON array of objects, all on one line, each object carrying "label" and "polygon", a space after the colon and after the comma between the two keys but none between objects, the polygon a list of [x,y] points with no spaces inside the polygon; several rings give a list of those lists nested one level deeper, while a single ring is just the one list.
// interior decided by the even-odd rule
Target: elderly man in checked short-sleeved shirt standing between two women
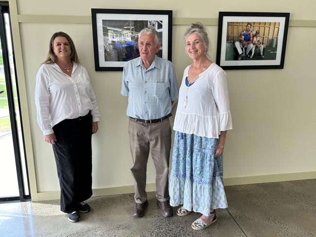
[{"label": "elderly man in checked short-sleeved shirt standing between two women", "polygon": [[172,102],[178,99],[176,74],[171,62],[159,58],[158,33],[144,28],[139,34],[140,57],[126,62],[122,91],[128,96],[127,116],[129,146],[133,158],[131,168],[135,179],[133,217],[142,217],[148,205],[146,169],[149,151],[156,168],[156,197],[161,214],[171,217],[168,174],[171,149]]}]

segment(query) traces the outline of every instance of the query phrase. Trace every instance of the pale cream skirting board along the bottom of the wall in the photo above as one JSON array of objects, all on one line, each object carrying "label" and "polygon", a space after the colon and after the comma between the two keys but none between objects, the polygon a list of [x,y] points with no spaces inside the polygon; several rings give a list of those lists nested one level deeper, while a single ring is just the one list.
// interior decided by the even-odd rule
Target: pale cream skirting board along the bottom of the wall
[{"label": "pale cream skirting board along the bottom of the wall", "polygon": [[[224,178],[224,185],[225,186],[247,185],[247,184],[260,184],[260,183],[292,181],[292,180],[304,180],[304,179],[316,179],[316,171]],[[133,193],[134,185],[95,188],[92,191],[93,191],[93,196],[107,196],[107,195]],[[147,184],[146,191],[147,192],[156,191],[156,184],[155,183]],[[32,196],[32,201],[55,200],[59,198],[60,198],[59,191],[39,192],[37,193],[36,197],[34,197],[34,195]]]}]

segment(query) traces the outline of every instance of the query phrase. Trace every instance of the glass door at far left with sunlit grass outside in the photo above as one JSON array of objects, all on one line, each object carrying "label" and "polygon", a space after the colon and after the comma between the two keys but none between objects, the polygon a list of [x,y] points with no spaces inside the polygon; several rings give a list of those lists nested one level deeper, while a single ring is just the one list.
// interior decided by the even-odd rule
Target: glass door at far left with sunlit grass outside
[{"label": "glass door at far left with sunlit grass outside", "polygon": [[0,2],[0,201],[30,198],[8,2]]}]

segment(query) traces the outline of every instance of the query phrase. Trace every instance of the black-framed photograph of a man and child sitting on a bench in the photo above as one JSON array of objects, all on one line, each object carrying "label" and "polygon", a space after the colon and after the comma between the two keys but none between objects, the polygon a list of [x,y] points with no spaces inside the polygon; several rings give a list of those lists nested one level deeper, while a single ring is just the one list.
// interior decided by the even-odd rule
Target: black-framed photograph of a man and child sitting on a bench
[{"label": "black-framed photograph of a man and child sitting on a bench", "polygon": [[216,64],[283,68],[290,13],[219,12]]}]

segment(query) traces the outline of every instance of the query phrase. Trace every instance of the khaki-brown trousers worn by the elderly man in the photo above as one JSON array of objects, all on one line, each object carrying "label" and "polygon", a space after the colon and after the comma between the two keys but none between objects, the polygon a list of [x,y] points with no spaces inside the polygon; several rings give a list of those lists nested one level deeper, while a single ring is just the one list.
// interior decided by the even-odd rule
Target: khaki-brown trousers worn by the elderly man
[{"label": "khaki-brown trousers worn by the elderly man", "polygon": [[171,149],[169,119],[152,124],[129,119],[128,135],[133,158],[131,171],[135,180],[135,202],[145,203],[147,200],[145,188],[149,150],[156,169],[156,197],[159,202],[169,200],[168,174]]}]

